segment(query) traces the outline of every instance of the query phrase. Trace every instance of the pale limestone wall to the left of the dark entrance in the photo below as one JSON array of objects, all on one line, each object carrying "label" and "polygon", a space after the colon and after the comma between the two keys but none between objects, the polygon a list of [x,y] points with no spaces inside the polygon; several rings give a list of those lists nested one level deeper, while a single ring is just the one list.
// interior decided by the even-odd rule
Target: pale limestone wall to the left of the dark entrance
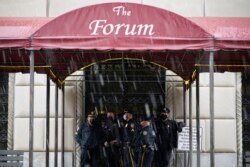
[{"label": "pale limestone wall to the left of the dark entrance", "polygon": [[[14,150],[25,151],[24,166],[28,162],[29,151],[29,74],[16,74],[14,79],[13,112],[13,146]],[[62,117],[62,91],[58,91],[58,151],[61,151],[61,117]],[[76,86],[65,86],[65,164],[72,166],[72,153],[74,151],[76,113]],[[46,75],[35,74],[34,90],[34,165],[45,166],[46,150]],[[11,139],[9,139],[11,140]],[[53,164],[55,148],[55,85],[51,82],[50,87],[50,163]],[[60,163],[60,153],[58,159]]]}]

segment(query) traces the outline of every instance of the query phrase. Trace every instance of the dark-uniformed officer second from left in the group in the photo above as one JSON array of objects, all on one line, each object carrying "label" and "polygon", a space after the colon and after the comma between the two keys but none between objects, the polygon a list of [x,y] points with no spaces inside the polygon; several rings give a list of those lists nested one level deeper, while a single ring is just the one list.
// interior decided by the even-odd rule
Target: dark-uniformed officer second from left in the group
[{"label": "dark-uniformed officer second from left in the group", "polygon": [[119,127],[113,112],[107,112],[107,118],[104,126],[105,142],[104,147],[106,151],[106,166],[120,167],[120,135]]}]

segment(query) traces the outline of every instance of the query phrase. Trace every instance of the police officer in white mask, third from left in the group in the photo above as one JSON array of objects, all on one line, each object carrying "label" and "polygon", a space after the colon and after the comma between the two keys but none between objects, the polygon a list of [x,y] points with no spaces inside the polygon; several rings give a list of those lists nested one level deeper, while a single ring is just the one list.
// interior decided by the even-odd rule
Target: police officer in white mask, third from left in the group
[{"label": "police officer in white mask, third from left in the group", "polygon": [[133,144],[137,132],[138,123],[133,118],[133,114],[125,110],[120,128],[123,167],[135,167]]}]

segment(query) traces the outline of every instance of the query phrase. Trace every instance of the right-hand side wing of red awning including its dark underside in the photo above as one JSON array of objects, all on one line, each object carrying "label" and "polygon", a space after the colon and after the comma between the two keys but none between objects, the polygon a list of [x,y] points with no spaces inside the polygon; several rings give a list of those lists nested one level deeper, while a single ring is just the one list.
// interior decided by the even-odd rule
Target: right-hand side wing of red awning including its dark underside
[{"label": "right-hand side wing of red awning including its dark underside", "polygon": [[[215,71],[249,72],[250,18],[193,17],[189,18],[214,36]],[[208,71],[208,58],[203,56],[200,70]]]}]

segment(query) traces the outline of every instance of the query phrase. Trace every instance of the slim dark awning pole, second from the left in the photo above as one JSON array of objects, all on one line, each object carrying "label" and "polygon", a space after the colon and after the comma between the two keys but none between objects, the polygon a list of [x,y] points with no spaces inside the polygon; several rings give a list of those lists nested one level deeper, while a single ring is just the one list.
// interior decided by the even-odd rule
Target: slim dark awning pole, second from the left
[{"label": "slim dark awning pole, second from the left", "polygon": [[49,167],[49,136],[50,136],[50,77],[47,74],[46,84],[46,167]]}]

